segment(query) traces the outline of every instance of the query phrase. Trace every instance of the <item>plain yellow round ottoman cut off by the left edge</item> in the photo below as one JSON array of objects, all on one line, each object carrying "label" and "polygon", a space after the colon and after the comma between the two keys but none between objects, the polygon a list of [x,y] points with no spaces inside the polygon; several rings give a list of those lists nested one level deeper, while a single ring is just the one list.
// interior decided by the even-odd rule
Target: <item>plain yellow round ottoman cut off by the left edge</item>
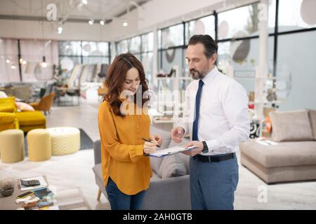
[{"label": "plain yellow round ottoman cut off by the left edge", "polygon": [[0,155],[2,162],[20,162],[24,160],[24,133],[22,130],[0,132]]}]

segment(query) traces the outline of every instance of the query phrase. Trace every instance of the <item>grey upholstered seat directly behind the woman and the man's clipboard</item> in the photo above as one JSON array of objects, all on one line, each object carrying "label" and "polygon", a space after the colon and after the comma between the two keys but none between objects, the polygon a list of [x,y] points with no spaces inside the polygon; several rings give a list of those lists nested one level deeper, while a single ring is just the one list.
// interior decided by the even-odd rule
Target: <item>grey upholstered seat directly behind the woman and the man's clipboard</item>
[{"label": "grey upholstered seat directly behind the woman and the man's clipboard", "polygon": [[[169,137],[169,132],[163,132],[162,130],[157,130],[156,128],[151,128],[152,134],[161,134],[163,138],[163,147],[169,146],[171,139]],[[94,150],[94,161],[95,166],[93,167],[93,172],[96,176],[96,184],[99,187],[98,200],[100,200],[100,195],[103,193],[107,197],[105,187],[103,184],[102,171],[101,171],[101,146],[100,140],[93,144]],[[184,157],[181,157],[184,158]],[[185,158],[188,160],[188,157]],[[184,162],[185,168],[188,168],[188,162]],[[152,164],[153,166],[153,164]],[[141,209],[145,210],[188,210],[191,209],[190,202],[190,176],[189,174],[184,176],[176,176],[171,178],[162,179],[157,175],[154,170],[152,171],[152,179],[150,180],[150,188],[147,189],[143,206]]]}]

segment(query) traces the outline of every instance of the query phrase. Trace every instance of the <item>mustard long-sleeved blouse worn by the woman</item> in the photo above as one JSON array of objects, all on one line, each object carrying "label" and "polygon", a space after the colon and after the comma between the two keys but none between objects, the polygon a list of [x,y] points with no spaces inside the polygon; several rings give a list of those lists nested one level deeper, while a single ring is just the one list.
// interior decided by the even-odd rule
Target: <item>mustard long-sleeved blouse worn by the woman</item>
[{"label": "mustard long-sleeved blouse worn by the woman", "polygon": [[105,186],[110,176],[117,188],[126,195],[136,195],[147,190],[152,169],[150,158],[143,153],[142,138],[150,137],[149,116],[135,113],[122,118],[115,115],[110,104],[104,101],[99,108],[98,126]]}]

